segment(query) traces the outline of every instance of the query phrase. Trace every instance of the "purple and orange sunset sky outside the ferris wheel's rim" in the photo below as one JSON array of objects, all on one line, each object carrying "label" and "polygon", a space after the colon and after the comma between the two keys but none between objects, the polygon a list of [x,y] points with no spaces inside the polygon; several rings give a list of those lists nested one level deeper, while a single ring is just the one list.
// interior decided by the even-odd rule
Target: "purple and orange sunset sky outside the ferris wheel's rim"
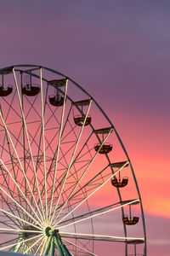
[{"label": "purple and orange sunset sky outside the ferris wheel's rim", "polygon": [[170,252],[170,2],[1,1],[0,68],[65,73],[105,110],[133,163],[149,256]]}]

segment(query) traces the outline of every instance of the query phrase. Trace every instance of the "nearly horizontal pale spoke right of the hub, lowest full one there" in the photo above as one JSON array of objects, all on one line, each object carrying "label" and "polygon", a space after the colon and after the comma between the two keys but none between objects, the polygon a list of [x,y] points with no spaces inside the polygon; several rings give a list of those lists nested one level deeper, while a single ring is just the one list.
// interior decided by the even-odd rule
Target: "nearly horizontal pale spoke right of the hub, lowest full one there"
[{"label": "nearly horizontal pale spoke right of the hub, lowest full one there", "polygon": [[104,236],[104,235],[96,235],[96,234],[81,234],[81,233],[67,233],[67,232],[59,232],[61,237],[74,238],[74,239],[87,239],[87,240],[96,240],[96,241],[131,241],[131,240],[139,240],[144,241],[143,237],[128,237],[128,236]]}]

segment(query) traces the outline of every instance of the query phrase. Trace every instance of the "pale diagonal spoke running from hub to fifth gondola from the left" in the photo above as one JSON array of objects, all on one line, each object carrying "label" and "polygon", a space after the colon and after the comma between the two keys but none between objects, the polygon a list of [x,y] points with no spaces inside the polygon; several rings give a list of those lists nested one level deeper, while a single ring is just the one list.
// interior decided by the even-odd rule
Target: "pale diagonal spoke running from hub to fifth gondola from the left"
[{"label": "pale diagonal spoke running from hub to fifth gondola from the left", "polygon": [[[112,131],[112,129],[108,132],[107,136],[105,137],[105,139],[103,140],[103,142],[100,144],[100,147],[99,147],[98,151],[94,154],[93,159],[89,162],[87,168],[86,168],[85,171],[82,173],[82,176],[81,176],[81,177],[79,178],[79,180],[77,181],[77,183],[76,183],[74,189],[71,190],[71,193],[70,193],[70,195],[67,197],[67,199],[65,200],[65,203],[64,203],[63,207],[65,207],[65,204],[67,203],[67,201],[70,200],[71,195],[72,195],[72,194],[74,193],[74,191],[77,189],[77,186],[78,186],[78,184],[81,182],[82,177],[84,177],[84,175],[86,174],[86,172],[88,172],[89,167],[90,167],[90,166],[92,165],[92,163],[94,162],[95,157],[96,157],[97,154],[99,153],[99,150],[100,150],[100,148],[102,148],[102,146],[103,146],[103,144],[105,143],[105,140],[107,139],[107,137],[109,137],[111,131]],[[59,213],[62,211],[63,207],[61,207]],[[59,217],[59,213],[58,213],[57,216],[54,218],[54,221]],[[54,224],[54,222],[53,222],[53,224]]]}]

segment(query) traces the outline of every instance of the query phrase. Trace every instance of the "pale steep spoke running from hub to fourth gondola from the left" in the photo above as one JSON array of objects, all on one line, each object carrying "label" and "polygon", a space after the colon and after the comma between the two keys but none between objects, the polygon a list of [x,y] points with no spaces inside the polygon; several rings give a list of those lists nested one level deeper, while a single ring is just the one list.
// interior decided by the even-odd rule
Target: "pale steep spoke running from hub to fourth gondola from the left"
[{"label": "pale steep spoke running from hub to fourth gondola from the left", "polygon": [[[77,146],[78,146],[78,143],[79,143],[80,138],[81,138],[81,136],[82,136],[82,131],[83,131],[84,125],[85,125],[85,123],[86,123],[86,119],[88,118],[88,112],[89,112],[89,110],[90,110],[91,104],[92,104],[92,100],[90,100],[90,102],[89,102],[88,110],[87,110],[87,113],[86,113],[86,115],[85,115],[85,119],[83,120],[83,124],[82,124],[81,131],[80,131],[79,136],[78,136],[78,138],[77,138],[77,144],[76,144],[76,146],[75,146],[75,148],[74,148],[74,151],[73,151],[73,153],[72,153],[71,160],[70,160],[70,164],[69,164],[68,170],[67,170],[67,172],[66,172],[66,174],[65,174],[65,180],[64,180],[64,182],[63,182],[63,184],[62,184],[62,188],[60,189],[59,199],[60,199],[60,195],[61,195],[62,192],[63,192],[64,186],[65,186],[65,182],[66,182],[66,178],[67,178],[68,173],[69,173],[69,171],[70,171],[70,169],[71,169],[71,165],[72,165],[74,156],[75,156],[76,151],[77,151]],[[54,214],[55,214],[55,211],[56,211],[56,209],[57,209],[57,207],[58,207],[59,199],[58,199],[58,201],[57,201],[56,207],[54,208]],[[60,210],[60,211],[62,211],[62,207],[61,207],[61,210]],[[59,211],[59,213],[60,213],[60,211]],[[59,216],[59,213],[58,213],[57,217]],[[50,224],[53,223],[54,214],[53,214],[53,216],[52,216],[52,218],[51,218],[51,220],[50,220]]]}]

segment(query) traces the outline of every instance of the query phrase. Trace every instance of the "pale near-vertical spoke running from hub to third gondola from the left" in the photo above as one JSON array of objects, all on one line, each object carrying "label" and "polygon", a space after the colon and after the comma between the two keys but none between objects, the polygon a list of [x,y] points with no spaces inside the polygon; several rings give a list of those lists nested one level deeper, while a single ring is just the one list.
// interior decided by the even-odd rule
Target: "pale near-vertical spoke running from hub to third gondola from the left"
[{"label": "pale near-vertical spoke running from hub to third gondola from the left", "polygon": [[[57,155],[56,155],[56,160],[55,160],[55,167],[54,167],[54,181],[53,181],[53,189],[51,191],[51,203],[49,207],[49,216],[50,218],[51,215],[51,210],[52,210],[52,204],[53,204],[53,198],[54,198],[54,185],[55,185],[55,179],[56,179],[56,172],[57,172],[57,166],[58,166],[58,159],[59,159],[59,148],[60,148],[60,141],[61,141],[61,135],[62,135],[62,129],[63,129],[63,120],[64,120],[64,114],[65,114],[65,101],[66,101],[66,93],[67,93],[67,83],[68,80],[66,80],[65,83],[65,96],[64,96],[64,104],[62,108],[62,113],[61,113],[61,122],[60,122],[60,127],[59,127],[59,139],[58,139],[58,145],[57,145]],[[59,195],[60,196],[60,195]],[[50,219],[49,219],[50,221]]]}]

